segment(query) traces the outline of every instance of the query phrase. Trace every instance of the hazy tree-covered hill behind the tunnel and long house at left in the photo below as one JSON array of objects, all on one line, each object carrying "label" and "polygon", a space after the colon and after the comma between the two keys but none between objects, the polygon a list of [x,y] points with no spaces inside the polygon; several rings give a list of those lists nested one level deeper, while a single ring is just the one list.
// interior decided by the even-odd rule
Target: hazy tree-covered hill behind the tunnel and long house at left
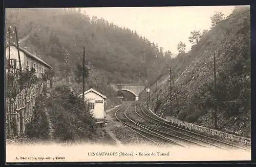
[{"label": "hazy tree-covered hill behind the tunnel and long house at left", "polygon": [[[142,82],[156,78],[170,60],[163,49],[125,27],[75,9],[8,9],[7,26],[16,25],[21,47],[40,55],[55,72],[57,84],[65,78],[65,53],[70,55],[70,76],[81,65],[83,47],[94,87],[111,95],[110,82]],[[150,77],[148,77],[150,76]],[[151,81],[151,80],[150,80]],[[77,89],[81,90],[74,84]],[[109,90],[109,91],[108,91]]]}]

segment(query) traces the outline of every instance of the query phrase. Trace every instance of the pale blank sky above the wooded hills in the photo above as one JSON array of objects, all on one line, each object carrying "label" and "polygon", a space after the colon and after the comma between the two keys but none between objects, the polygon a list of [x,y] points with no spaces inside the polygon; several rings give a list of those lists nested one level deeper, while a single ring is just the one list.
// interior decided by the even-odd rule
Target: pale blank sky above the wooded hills
[{"label": "pale blank sky above the wooded hills", "polygon": [[215,11],[228,16],[234,6],[198,6],[198,7],[119,7],[119,8],[81,8],[90,17],[97,16],[125,26],[142,37],[177,54],[177,44],[186,44],[186,51],[191,48],[188,41],[190,32],[209,30],[210,17]]}]

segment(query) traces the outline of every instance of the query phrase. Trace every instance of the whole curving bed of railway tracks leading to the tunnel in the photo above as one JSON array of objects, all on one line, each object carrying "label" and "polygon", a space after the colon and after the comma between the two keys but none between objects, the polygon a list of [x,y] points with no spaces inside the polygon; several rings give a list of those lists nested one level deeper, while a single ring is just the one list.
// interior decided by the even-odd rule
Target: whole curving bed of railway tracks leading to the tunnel
[{"label": "whole curving bed of railway tracks leading to the tunnel", "polygon": [[[133,108],[128,110],[130,107]],[[139,116],[139,118],[143,121],[137,121],[138,119],[134,118],[135,116]],[[140,102],[135,102],[134,106],[132,103],[124,104],[122,107],[116,110],[115,117],[127,128],[160,146],[171,144],[172,146],[176,145],[181,147],[200,146],[224,150],[236,148],[250,151],[250,149],[226,143],[217,140],[216,138],[188,131],[186,129],[166,123],[159,118],[156,118],[156,116],[153,116],[152,114],[147,114],[142,108]],[[170,131],[172,131],[172,133],[170,133]]]}]

